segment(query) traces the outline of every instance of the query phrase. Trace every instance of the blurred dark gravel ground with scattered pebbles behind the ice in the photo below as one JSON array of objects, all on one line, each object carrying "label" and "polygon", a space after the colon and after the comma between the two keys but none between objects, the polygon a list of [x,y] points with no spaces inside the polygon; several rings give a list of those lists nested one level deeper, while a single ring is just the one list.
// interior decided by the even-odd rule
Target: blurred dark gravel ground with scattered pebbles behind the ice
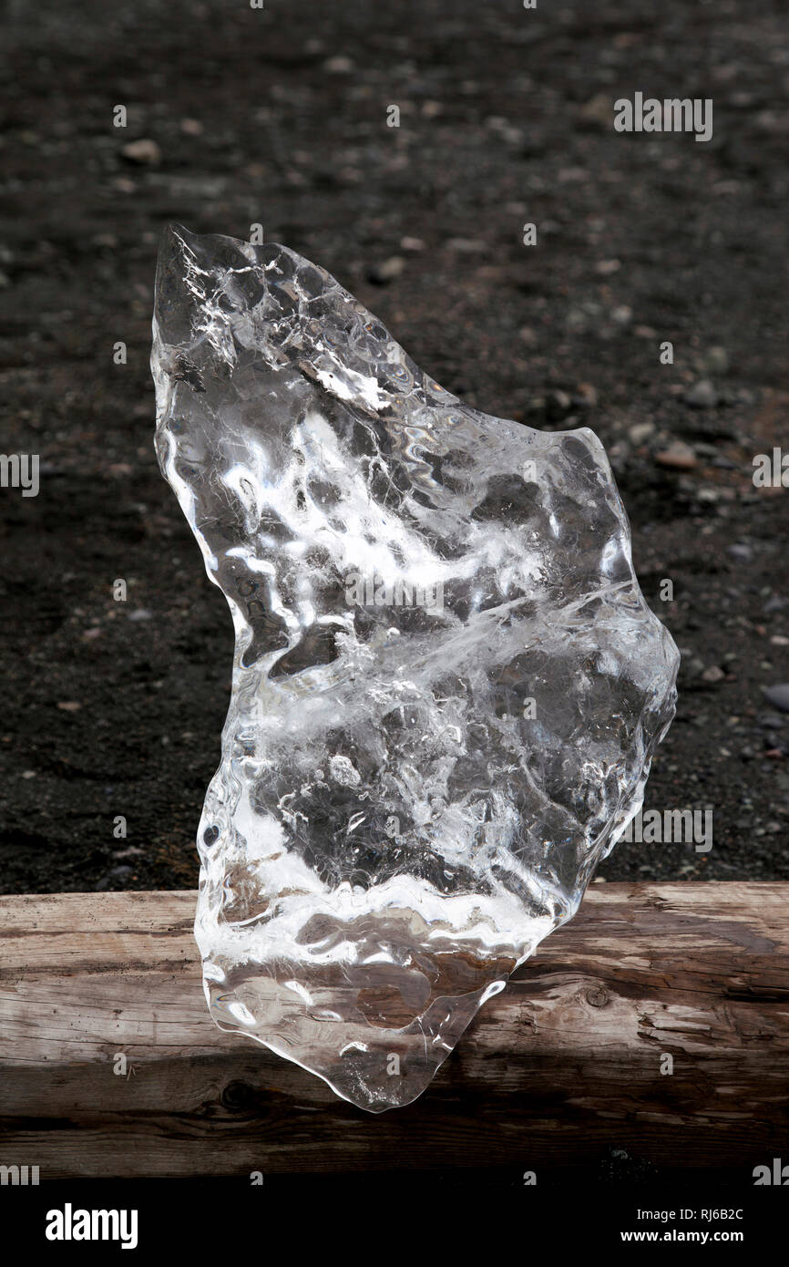
[{"label": "blurred dark gravel ground with scattered pebbles behind the ice", "polygon": [[[4,6],[0,447],[42,481],[0,490],[3,891],[196,884],[233,639],[152,446],[174,219],[261,223],[469,404],[596,431],[684,654],[646,808],[714,811],[708,854],[619,844],[600,874],[789,878],[789,712],[762,696],[789,682],[789,490],[751,479],[789,450],[781,8]],[[713,139],[617,134],[637,90],[712,98]]]}]

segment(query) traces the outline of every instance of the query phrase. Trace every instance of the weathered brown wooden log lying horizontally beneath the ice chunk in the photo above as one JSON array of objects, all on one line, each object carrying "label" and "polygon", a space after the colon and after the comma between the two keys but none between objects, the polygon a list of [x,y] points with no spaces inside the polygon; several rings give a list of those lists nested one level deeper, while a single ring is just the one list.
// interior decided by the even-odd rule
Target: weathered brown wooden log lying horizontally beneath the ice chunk
[{"label": "weathered brown wooden log lying horizontally beneath the ice chunk", "polygon": [[427,1092],[375,1117],[215,1029],[194,907],[193,892],[0,898],[0,1163],[540,1169],[613,1145],[745,1176],[786,1153],[789,884],[593,886]]}]

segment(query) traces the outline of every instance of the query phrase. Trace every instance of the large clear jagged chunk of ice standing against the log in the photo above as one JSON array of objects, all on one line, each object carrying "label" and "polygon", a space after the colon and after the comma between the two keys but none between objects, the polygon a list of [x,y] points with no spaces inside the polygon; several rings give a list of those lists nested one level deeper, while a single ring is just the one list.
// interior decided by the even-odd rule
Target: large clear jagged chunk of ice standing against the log
[{"label": "large clear jagged chunk of ice standing against the log", "polygon": [[588,428],[469,408],[282,246],[168,229],[153,334],[158,459],[236,628],[211,1015],[404,1105],[637,812],[678,651]]}]

